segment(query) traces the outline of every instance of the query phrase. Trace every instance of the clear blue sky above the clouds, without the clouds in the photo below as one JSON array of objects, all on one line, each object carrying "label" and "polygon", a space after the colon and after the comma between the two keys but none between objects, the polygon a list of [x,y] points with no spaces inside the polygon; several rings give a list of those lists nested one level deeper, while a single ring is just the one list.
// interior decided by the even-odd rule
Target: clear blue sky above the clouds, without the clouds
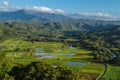
[{"label": "clear blue sky above the clouds, without the clouds", "polygon": [[[67,13],[108,13],[120,17],[120,0],[0,0],[19,7],[47,7]],[[1,5],[1,4],[0,4]]]}]

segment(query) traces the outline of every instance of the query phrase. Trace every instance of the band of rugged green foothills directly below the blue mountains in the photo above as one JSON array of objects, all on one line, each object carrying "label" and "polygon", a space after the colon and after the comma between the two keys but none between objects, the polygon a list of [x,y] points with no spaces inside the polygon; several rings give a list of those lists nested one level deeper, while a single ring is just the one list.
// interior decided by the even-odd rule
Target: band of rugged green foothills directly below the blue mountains
[{"label": "band of rugged green foothills directly below the blue mountains", "polygon": [[93,31],[110,28],[118,25],[119,22],[102,21],[6,21],[0,22],[0,34],[2,35],[22,35],[22,36],[60,36],[63,31]]}]

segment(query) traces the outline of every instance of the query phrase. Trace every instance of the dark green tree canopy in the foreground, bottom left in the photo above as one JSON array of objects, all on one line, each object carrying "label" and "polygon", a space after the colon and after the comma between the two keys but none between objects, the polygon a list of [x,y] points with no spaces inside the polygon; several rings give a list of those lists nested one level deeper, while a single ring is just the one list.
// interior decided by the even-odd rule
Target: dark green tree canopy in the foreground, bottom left
[{"label": "dark green tree canopy in the foreground, bottom left", "polygon": [[0,66],[1,80],[78,80],[73,71],[59,66],[52,66],[44,62],[32,62],[28,65]]}]

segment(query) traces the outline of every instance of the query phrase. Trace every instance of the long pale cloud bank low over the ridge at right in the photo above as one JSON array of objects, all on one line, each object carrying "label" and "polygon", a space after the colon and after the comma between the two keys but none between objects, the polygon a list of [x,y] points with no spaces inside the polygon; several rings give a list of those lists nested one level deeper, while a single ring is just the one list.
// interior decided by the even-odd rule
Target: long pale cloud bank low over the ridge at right
[{"label": "long pale cloud bank low over the ridge at right", "polygon": [[73,13],[68,14],[69,17],[74,19],[89,19],[89,20],[102,20],[102,21],[119,21],[120,19],[108,13]]}]

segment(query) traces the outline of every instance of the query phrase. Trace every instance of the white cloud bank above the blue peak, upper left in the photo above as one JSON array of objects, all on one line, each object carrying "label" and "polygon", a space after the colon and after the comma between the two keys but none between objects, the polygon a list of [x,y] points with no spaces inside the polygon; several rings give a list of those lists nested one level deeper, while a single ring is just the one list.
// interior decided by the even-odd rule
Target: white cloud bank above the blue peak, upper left
[{"label": "white cloud bank above the blue peak, upper left", "polygon": [[65,13],[61,9],[52,9],[44,6],[31,6],[31,7],[15,6],[13,4],[10,4],[7,1],[0,2],[0,5],[2,5],[2,7],[0,8],[0,11],[8,11],[8,12],[24,9],[29,11],[40,11],[40,12],[47,12],[47,13],[59,13],[59,14]]}]

